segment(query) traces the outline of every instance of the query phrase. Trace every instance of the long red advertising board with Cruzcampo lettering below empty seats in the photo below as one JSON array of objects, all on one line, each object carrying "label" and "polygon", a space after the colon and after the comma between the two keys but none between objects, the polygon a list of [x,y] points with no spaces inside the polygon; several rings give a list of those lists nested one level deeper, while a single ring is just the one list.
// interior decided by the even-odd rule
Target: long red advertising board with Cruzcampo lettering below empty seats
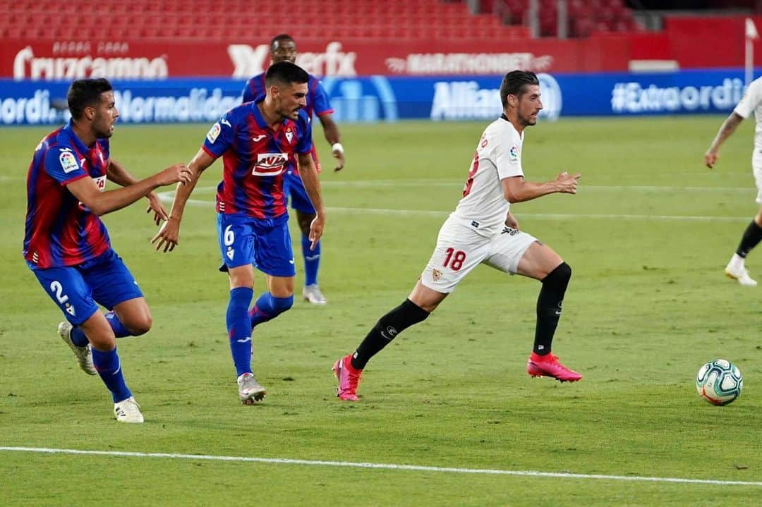
[{"label": "long red advertising board with Cruzcampo lettering below empty seats", "polygon": [[[370,43],[325,40],[299,45],[298,62],[314,75],[501,75],[623,71],[626,37],[519,40],[497,49],[466,42]],[[248,78],[267,69],[266,43],[198,40],[4,40],[0,78],[70,80],[89,76],[163,79],[184,76]]]}]

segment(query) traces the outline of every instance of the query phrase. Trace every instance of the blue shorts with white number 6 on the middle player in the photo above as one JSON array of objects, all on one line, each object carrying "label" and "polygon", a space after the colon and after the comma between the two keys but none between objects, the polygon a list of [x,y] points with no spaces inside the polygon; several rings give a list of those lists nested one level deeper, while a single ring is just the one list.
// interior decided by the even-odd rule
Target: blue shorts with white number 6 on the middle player
[{"label": "blue shorts with white number 6 on the middle player", "polygon": [[270,276],[296,276],[288,213],[261,220],[243,213],[217,213],[220,271],[253,264]]}]

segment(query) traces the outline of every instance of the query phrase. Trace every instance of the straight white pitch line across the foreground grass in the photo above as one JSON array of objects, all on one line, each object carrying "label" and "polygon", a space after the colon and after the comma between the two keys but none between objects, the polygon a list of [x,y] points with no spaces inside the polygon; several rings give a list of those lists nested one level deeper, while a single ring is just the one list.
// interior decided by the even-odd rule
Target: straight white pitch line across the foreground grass
[{"label": "straight white pitch line across the foreground grass", "polygon": [[355,463],[352,461],[298,460],[291,458],[253,458],[245,456],[214,456],[210,454],[176,454],[165,452],[128,451],[79,451],[77,449],[54,449],[36,447],[0,447],[0,451],[37,452],[44,454],[86,454],[94,456],[117,456],[120,458],[166,458],[178,460],[243,461],[248,463],[296,464],[308,467],[373,468],[380,470],[406,470],[444,474],[511,475],[522,477],[554,477],[560,479],[597,479],[636,481],[651,483],[711,484],[714,486],[762,486],[762,482],[744,480],[686,479],[683,477],[645,477],[637,475],[570,474],[567,472],[539,472],[536,470],[495,470],[490,468],[427,467],[423,465],[391,463]]}]

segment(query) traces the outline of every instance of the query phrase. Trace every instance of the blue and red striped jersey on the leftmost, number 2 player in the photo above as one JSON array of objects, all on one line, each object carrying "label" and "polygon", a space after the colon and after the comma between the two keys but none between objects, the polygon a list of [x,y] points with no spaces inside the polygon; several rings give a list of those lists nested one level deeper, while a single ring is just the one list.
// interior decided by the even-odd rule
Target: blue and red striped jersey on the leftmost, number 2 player
[{"label": "blue and red striped jersey on the leftmost, number 2 player", "polygon": [[43,269],[75,266],[110,248],[101,218],[66,189],[72,181],[91,177],[105,190],[108,158],[108,139],[88,148],[71,122],[37,145],[27,174],[26,260]]}]

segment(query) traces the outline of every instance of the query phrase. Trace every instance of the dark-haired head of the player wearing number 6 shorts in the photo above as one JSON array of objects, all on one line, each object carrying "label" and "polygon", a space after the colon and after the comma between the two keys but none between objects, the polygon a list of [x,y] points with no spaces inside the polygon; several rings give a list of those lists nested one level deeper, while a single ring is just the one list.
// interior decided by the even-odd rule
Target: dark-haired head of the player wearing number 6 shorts
[{"label": "dark-haired head of the player wearing number 6 shorts", "polygon": [[299,110],[307,105],[306,70],[291,62],[277,62],[270,65],[264,75],[267,98],[275,104],[276,113],[283,118],[296,120]]}]

